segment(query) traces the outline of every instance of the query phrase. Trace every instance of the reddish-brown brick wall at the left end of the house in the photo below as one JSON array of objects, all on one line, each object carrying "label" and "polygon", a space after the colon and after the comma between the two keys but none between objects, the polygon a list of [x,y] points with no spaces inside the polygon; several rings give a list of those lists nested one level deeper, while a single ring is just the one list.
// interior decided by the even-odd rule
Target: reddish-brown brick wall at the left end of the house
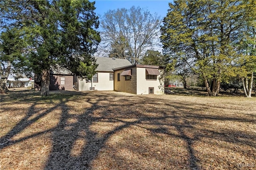
[{"label": "reddish-brown brick wall at the left end of the house", "polygon": [[[61,84],[61,77],[65,77],[65,84]],[[51,75],[50,90],[74,90],[73,75]]]}]

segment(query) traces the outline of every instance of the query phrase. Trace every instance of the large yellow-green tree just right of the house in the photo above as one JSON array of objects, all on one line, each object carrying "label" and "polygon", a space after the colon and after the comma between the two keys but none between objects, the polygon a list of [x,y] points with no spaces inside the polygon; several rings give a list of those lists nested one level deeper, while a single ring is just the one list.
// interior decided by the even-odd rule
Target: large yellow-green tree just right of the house
[{"label": "large yellow-green tree just right of the house", "polygon": [[164,54],[192,61],[209,96],[218,96],[220,82],[236,76],[236,44],[250,11],[255,11],[252,3],[255,1],[175,0],[169,4],[160,37]]}]

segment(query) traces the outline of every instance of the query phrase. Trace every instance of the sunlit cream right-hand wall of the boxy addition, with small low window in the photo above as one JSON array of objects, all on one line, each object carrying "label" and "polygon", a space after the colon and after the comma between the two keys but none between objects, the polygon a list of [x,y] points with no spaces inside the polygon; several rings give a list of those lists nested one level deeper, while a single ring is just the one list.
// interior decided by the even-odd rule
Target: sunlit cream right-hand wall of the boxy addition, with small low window
[{"label": "sunlit cream right-hand wall of the boxy addition, with small low window", "polygon": [[154,94],[163,94],[159,77],[157,80],[146,80],[146,68],[137,67],[137,94],[148,94],[149,87],[154,87]]}]

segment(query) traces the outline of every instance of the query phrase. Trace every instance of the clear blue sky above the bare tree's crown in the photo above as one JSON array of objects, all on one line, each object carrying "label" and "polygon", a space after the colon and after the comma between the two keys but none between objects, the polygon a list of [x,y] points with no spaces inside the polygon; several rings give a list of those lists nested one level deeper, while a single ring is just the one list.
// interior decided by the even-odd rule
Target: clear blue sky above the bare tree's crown
[{"label": "clear blue sky above the bare tree's crown", "polygon": [[103,16],[108,10],[116,10],[117,8],[129,9],[132,6],[140,6],[140,8],[148,10],[150,14],[157,13],[158,16],[160,15],[164,18],[169,9],[169,2],[173,2],[173,0],[95,0],[95,12],[98,16]]}]

